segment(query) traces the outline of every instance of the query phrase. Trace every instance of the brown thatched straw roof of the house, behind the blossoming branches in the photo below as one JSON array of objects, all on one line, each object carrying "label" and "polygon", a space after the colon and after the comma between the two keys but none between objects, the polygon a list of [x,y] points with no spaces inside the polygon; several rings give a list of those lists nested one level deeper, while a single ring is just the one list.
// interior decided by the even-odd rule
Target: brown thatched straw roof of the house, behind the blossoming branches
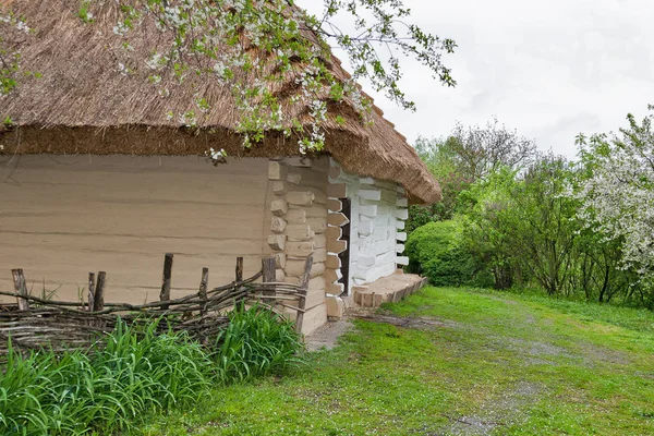
[{"label": "brown thatched straw roof of the house, behind the blossoming branches", "polygon": [[[144,80],[121,74],[116,57],[121,40],[112,32],[119,20],[116,2],[106,2],[93,25],[77,16],[78,0],[0,0],[0,5],[3,2],[35,29],[22,45],[22,68],[41,77],[27,78],[0,97],[0,117],[15,122],[4,132],[0,125],[0,153],[202,155],[214,147],[231,156],[299,154],[296,140],[279,132],[269,132],[263,144],[244,150],[233,131],[239,112],[228,87],[187,80],[161,98],[157,88],[147,85],[145,72]],[[142,33],[134,47],[144,50],[145,59],[158,36],[147,29]],[[327,62],[337,77],[349,77],[336,58]],[[276,92],[290,96],[296,90],[293,83]],[[169,110],[197,109],[193,96],[198,95],[211,105],[198,120],[198,129],[187,130],[166,117]],[[307,108],[289,105],[284,110],[302,116]],[[344,123],[336,122],[336,116]],[[325,152],[349,172],[399,182],[412,203],[439,201],[438,183],[405,137],[379,109],[373,110],[372,119],[373,125],[363,123],[351,102],[330,104]]]}]

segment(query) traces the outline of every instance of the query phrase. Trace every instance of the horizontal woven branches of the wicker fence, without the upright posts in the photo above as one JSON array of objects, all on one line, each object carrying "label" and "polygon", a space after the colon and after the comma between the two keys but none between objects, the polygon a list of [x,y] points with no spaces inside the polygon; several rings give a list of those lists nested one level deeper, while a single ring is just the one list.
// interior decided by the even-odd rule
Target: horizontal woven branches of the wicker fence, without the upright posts
[{"label": "horizontal woven branches of the wicker fence, without the upright posts", "polygon": [[[262,275],[259,271],[249,279],[214,288],[205,295],[197,292],[140,305],[105,303],[105,308],[97,312],[88,312],[88,304],[84,302],[0,291],[0,295],[31,303],[26,311],[0,305],[0,355],[8,353],[10,339],[12,348],[21,351],[88,349],[102,335],[111,332],[119,319],[132,326],[146,326],[154,319],[164,318],[157,327],[159,332],[183,330],[203,343],[210,343],[229,323],[226,312],[239,304],[256,303],[281,316],[276,306],[304,313],[301,303],[306,299],[306,289],[291,283],[256,283]],[[264,295],[266,303],[262,302]]]}]

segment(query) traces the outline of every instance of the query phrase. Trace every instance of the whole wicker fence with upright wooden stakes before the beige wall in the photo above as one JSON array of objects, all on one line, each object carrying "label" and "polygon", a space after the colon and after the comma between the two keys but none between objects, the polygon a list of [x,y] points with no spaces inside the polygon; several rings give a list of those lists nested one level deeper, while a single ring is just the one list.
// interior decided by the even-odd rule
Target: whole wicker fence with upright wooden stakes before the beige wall
[{"label": "whole wicker fence with upright wooden stakes before the beige wall", "polygon": [[166,255],[159,301],[142,305],[105,303],[104,271],[88,275],[86,301],[63,302],[29,295],[23,271],[12,270],[15,292],[0,292],[0,295],[15,298],[16,304],[0,305],[0,354],[8,352],[10,338],[12,347],[21,350],[87,348],[101,335],[112,331],[119,319],[138,325],[164,317],[167,322],[159,323],[160,329],[186,330],[208,343],[228,324],[226,313],[243,303],[257,303],[274,312],[281,307],[295,311],[296,329],[301,331],[311,257],[299,284],[275,282],[275,258],[263,259],[262,269],[243,279],[243,258],[239,257],[233,282],[208,289],[209,271],[204,268],[196,293],[171,300],[172,259],[172,254]]}]

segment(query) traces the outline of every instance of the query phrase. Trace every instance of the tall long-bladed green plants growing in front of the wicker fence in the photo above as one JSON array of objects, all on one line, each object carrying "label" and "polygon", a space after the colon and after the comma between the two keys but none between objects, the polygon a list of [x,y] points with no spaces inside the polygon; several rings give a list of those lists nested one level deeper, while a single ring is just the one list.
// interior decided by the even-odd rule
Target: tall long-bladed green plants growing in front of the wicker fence
[{"label": "tall long-bladed green plants growing in front of the wicker fence", "polygon": [[82,435],[129,429],[144,413],[184,409],[227,386],[301,362],[293,325],[240,307],[214,348],[185,332],[119,323],[90,352],[10,351],[0,375],[0,434]]}]

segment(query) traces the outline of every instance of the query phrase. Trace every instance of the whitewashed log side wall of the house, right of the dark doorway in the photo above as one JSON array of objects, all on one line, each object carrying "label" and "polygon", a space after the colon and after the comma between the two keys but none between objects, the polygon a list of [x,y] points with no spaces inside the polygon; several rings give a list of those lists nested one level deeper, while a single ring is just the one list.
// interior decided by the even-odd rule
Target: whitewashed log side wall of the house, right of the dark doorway
[{"label": "whitewashed log side wall of the house, right of the dark doorway", "polygon": [[334,159],[330,166],[329,182],[344,185],[351,202],[349,288],[371,283],[393,274],[398,265],[407,265],[408,258],[402,256],[408,218],[404,189],[347,173]]}]

